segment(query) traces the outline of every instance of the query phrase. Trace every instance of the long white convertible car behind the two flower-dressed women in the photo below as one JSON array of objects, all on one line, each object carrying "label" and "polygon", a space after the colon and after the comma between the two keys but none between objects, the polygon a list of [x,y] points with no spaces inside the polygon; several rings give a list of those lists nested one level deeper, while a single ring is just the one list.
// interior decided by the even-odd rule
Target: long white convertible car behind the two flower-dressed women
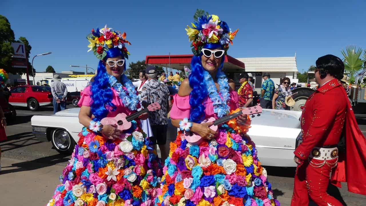
[{"label": "long white convertible car behind the two flower-dressed women", "polygon": [[[55,115],[34,115],[31,118],[33,134],[40,141],[51,141],[60,153],[71,153],[83,127],[78,119],[79,110],[70,108]],[[299,111],[263,109],[260,117],[252,118],[248,134],[255,143],[262,165],[296,166],[293,152],[301,130],[300,116]],[[169,121],[168,140],[175,140],[176,131]]]}]

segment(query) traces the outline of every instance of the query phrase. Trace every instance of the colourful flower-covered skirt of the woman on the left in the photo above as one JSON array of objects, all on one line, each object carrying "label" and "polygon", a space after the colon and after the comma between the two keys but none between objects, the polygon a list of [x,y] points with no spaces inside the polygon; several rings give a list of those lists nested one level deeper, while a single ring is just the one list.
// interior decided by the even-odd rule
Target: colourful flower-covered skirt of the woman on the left
[{"label": "colourful flower-covered skirt of the woman on the left", "polygon": [[[49,206],[152,206],[162,167],[141,129],[107,140],[83,128]],[[160,191],[159,191],[160,190]]]}]

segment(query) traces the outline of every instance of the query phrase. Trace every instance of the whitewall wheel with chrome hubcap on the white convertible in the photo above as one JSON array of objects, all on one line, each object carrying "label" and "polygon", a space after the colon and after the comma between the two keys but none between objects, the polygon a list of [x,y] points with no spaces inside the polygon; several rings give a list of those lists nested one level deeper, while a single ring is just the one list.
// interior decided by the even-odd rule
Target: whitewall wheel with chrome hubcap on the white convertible
[{"label": "whitewall wheel with chrome hubcap on the white convertible", "polygon": [[51,142],[55,150],[61,154],[71,154],[76,145],[71,135],[62,128],[51,131]]}]

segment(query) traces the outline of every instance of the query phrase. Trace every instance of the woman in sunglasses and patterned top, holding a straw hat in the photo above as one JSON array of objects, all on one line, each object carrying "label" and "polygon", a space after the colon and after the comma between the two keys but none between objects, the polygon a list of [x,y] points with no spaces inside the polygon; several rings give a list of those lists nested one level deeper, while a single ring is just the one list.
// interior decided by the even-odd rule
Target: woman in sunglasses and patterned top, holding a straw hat
[{"label": "woman in sunglasses and patterned top, holding a straw hat", "polygon": [[292,95],[290,84],[290,78],[285,77],[282,79],[282,84],[275,89],[275,93],[273,94],[272,108],[276,108],[276,110],[286,109],[285,99],[287,96]]}]

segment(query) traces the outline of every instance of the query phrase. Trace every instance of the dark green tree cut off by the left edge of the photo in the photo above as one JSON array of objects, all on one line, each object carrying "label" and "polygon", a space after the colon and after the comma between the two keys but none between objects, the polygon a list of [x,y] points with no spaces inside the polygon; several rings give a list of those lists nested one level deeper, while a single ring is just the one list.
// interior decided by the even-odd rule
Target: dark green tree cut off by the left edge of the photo
[{"label": "dark green tree cut off by the left edge of the photo", "polygon": [[0,68],[11,72],[11,56],[14,54],[14,49],[11,43],[14,41],[14,31],[11,29],[8,19],[0,15]]}]

